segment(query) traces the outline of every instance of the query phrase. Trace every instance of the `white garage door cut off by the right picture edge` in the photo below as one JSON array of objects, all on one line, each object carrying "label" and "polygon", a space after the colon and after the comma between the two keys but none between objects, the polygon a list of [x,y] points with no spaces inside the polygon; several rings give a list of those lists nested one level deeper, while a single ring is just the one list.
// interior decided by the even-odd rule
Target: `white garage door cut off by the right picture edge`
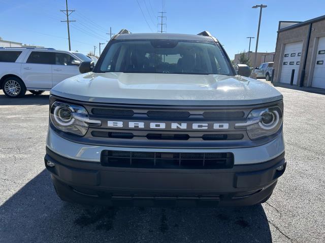
[{"label": "white garage door cut off by the right picture edge", "polygon": [[325,89],[325,37],[321,37],[318,40],[318,48],[311,87]]}]

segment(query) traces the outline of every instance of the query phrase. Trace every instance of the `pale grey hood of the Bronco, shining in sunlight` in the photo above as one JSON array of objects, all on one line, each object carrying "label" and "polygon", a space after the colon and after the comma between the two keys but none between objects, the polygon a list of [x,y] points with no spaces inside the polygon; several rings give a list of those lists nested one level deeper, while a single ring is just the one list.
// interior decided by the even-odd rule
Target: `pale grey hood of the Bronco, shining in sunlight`
[{"label": "pale grey hood of the Bronco, shining in sunlight", "polygon": [[51,94],[87,102],[153,105],[252,105],[281,100],[256,79],[220,74],[84,73],[68,78]]}]

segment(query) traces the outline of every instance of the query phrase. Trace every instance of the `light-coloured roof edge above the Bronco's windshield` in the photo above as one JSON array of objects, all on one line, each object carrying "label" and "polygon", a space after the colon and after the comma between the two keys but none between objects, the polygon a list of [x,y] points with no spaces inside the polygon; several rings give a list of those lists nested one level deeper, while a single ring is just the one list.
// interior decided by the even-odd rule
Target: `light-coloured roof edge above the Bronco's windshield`
[{"label": "light-coloured roof edge above the Bronco's windshield", "polygon": [[172,34],[172,33],[134,33],[119,34],[116,39],[182,39],[184,41],[214,42],[210,36],[197,34]]}]

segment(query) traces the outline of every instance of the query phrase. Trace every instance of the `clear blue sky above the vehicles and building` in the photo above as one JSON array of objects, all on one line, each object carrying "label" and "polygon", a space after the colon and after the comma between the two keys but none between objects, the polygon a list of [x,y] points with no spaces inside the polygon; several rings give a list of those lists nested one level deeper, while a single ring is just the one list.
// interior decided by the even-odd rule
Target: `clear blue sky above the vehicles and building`
[{"label": "clear blue sky above the vehicles and building", "polygon": [[[65,0],[0,0],[0,36],[60,50],[68,50]],[[99,42],[107,43],[109,27],[113,32],[127,28],[132,32],[156,32],[161,0],[69,0],[72,50],[93,51]],[[167,31],[197,34],[209,30],[224,45],[230,58],[248,50],[247,36],[256,36],[258,9],[263,9],[258,51],[275,49],[279,20],[305,21],[325,14],[325,0],[165,0]],[[140,7],[141,9],[140,9]],[[143,16],[142,12],[145,16]],[[146,19],[146,20],[145,20]],[[148,23],[147,23],[147,22]],[[150,26],[150,28],[148,27]],[[252,39],[251,50],[255,47]],[[102,46],[104,48],[104,45]],[[96,49],[99,54],[99,49]]]}]

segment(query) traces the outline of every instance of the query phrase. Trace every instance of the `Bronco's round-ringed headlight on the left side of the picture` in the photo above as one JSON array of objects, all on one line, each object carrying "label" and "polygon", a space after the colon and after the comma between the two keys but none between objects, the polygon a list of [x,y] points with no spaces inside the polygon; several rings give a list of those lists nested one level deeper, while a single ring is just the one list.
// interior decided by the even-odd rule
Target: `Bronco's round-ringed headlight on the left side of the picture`
[{"label": "Bronco's round-ringed headlight on the left side of the picture", "polygon": [[55,101],[50,109],[52,124],[66,133],[84,136],[89,124],[101,125],[100,120],[90,120],[87,110],[80,105]]}]

